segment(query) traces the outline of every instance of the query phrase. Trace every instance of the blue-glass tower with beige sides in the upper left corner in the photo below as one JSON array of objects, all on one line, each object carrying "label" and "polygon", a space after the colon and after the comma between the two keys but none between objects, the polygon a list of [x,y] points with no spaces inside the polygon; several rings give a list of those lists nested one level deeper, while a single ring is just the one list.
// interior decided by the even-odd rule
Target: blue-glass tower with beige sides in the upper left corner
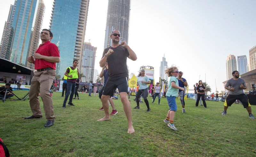
[{"label": "blue-glass tower with beige sides in the upper left corner", "polygon": [[36,35],[40,32],[43,14],[43,0],[15,0],[7,21],[10,22],[9,40],[6,40],[8,45],[3,42],[1,48],[4,47],[6,53],[2,53],[2,56],[12,62],[28,65],[30,51],[38,47],[39,38]]}]

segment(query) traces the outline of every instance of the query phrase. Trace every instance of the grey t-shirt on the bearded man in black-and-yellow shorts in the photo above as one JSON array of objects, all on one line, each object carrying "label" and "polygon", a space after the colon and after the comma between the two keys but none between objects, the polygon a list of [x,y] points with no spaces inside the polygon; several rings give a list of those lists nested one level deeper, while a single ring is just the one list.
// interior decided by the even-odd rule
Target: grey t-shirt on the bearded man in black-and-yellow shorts
[{"label": "grey t-shirt on the bearded man in black-and-yellow shorts", "polygon": [[244,87],[246,87],[245,81],[244,79],[238,78],[237,80],[235,79],[229,79],[228,82],[226,83],[226,87],[229,86],[229,88],[234,87],[235,90],[234,91],[229,91],[229,94],[232,95],[238,95],[238,94],[243,94],[244,91],[243,89],[240,88],[241,85],[244,85]]}]

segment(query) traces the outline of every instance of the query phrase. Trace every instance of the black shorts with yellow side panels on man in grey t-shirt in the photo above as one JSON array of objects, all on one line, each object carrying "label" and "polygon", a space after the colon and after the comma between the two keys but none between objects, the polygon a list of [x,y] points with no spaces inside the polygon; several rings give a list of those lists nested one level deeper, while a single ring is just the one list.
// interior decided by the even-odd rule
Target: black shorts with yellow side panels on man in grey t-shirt
[{"label": "black shorts with yellow side panels on man in grey t-shirt", "polygon": [[244,108],[251,107],[249,99],[244,93],[238,95],[228,94],[224,106],[231,106],[236,100],[239,100]]}]

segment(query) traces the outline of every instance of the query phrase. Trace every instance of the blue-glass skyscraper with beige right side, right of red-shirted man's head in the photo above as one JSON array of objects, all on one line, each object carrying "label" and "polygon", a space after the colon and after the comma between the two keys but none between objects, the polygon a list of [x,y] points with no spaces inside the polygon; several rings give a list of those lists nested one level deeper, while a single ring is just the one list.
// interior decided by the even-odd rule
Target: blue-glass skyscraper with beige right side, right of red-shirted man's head
[{"label": "blue-glass skyscraper with beige right side, right of red-shirted man's head", "polygon": [[89,0],[54,0],[50,30],[52,43],[60,50],[60,63],[56,64],[56,73],[64,76],[66,68],[73,60],[81,67],[84,35],[86,29]]}]

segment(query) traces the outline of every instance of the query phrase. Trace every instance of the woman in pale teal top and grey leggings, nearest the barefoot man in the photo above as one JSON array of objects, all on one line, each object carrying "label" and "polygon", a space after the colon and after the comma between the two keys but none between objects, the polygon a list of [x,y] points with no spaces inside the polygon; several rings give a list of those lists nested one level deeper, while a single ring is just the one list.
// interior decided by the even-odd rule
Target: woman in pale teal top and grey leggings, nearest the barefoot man
[{"label": "woman in pale teal top and grey leggings, nearest the barefoot man", "polygon": [[139,103],[139,98],[140,95],[143,95],[144,102],[147,105],[148,110],[150,111],[149,108],[149,103],[148,103],[148,84],[150,84],[149,79],[147,76],[145,76],[145,70],[141,70],[139,75],[138,75],[138,80],[137,82],[139,83],[139,91],[136,93],[136,102],[137,106],[135,108],[140,108],[140,103]]}]

